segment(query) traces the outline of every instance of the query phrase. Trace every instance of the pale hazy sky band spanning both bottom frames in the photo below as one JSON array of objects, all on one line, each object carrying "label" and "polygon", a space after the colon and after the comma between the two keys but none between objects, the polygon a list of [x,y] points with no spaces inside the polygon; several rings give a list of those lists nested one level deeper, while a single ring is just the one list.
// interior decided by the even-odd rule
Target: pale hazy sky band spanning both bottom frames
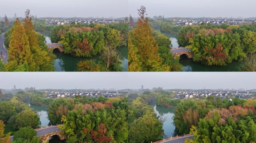
[{"label": "pale hazy sky band spanning both bottom frames", "polygon": [[0,88],[256,89],[252,72],[0,72]]}]

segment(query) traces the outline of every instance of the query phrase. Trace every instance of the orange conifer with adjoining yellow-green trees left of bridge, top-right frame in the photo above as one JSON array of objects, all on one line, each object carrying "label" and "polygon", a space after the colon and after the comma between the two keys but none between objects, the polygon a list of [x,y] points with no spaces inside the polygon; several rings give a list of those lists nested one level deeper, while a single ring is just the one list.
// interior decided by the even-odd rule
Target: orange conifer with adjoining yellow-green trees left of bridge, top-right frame
[{"label": "orange conifer with adjoining yellow-green trees left of bridge, top-right frame", "polygon": [[152,31],[145,7],[139,13],[136,27],[128,34],[128,71],[181,71],[179,59],[169,50],[170,40]]}]

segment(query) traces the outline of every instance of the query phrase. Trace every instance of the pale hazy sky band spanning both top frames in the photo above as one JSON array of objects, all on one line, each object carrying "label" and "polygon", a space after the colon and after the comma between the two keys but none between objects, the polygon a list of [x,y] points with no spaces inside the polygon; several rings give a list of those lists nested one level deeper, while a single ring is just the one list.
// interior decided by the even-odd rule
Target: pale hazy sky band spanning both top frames
[{"label": "pale hazy sky band spanning both top frames", "polygon": [[256,0],[1,0],[0,16],[24,17],[30,9],[37,17],[137,17],[146,6],[150,17],[256,17]]}]

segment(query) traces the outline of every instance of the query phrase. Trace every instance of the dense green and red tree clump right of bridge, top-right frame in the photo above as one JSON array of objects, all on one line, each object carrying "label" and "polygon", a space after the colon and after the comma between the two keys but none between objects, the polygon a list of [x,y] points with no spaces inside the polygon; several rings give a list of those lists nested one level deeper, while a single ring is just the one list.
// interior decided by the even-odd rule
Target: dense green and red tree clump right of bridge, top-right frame
[{"label": "dense green and red tree clump right of bridge, top-right frame", "polygon": [[205,65],[226,66],[233,60],[242,61],[256,52],[255,24],[183,26],[178,31],[180,46],[192,49],[193,61]]}]

